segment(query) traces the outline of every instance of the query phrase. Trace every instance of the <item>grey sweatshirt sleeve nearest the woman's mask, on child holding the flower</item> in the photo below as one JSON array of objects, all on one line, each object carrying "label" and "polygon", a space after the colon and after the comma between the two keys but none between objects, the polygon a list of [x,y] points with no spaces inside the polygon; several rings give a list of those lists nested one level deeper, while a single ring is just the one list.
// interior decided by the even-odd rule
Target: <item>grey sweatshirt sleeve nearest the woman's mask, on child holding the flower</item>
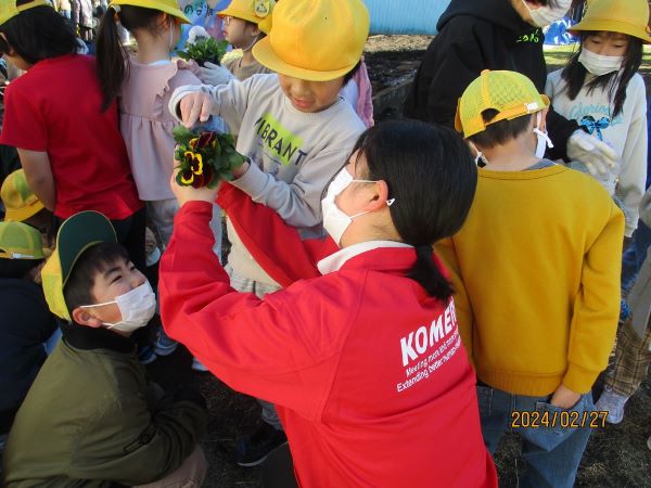
[{"label": "grey sweatshirt sleeve nearest the woman's mask, on child holding the flower", "polygon": [[289,226],[309,228],[321,222],[323,189],[344,166],[354,140],[343,147],[321,151],[304,163],[291,183],[277,180],[252,164],[231,184],[247,193],[254,202],[273,208]]}]

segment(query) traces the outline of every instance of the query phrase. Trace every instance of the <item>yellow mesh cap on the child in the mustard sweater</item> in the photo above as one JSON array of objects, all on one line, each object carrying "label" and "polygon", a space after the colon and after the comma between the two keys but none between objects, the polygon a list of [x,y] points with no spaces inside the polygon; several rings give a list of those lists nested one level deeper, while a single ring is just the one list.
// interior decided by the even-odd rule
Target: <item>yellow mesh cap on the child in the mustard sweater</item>
[{"label": "yellow mesh cap on the child in the mustard sweater", "polygon": [[[538,93],[526,76],[515,72],[484,69],[459,99],[455,128],[469,138],[483,132],[490,124],[534,114],[548,106],[547,95]],[[485,123],[482,114],[489,108],[498,114]]]}]

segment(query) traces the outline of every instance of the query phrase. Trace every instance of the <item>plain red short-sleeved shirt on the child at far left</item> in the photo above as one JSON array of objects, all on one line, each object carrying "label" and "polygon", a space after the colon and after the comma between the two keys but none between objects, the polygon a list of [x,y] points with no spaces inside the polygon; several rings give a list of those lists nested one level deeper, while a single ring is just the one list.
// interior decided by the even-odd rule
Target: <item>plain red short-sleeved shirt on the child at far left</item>
[{"label": "plain red short-sleeved shirt on the child at far left", "polygon": [[94,60],[85,55],[40,61],[7,88],[0,143],[48,153],[62,219],[97,210],[122,220],[142,206],[117,104],[101,106]]}]

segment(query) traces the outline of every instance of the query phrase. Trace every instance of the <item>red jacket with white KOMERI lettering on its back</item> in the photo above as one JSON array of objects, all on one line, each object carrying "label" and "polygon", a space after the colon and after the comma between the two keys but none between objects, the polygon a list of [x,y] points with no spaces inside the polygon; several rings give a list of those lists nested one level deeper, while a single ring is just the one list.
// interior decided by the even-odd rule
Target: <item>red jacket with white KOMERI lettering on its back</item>
[{"label": "red jacket with white KOMERI lettering on its back", "polygon": [[497,486],[454,304],[405,277],[412,248],[360,254],[260,300],[229,286],[210,218],[204,202],[177,214],[161,260],[165,330],[232,388],[276,403],[301,486]]}]

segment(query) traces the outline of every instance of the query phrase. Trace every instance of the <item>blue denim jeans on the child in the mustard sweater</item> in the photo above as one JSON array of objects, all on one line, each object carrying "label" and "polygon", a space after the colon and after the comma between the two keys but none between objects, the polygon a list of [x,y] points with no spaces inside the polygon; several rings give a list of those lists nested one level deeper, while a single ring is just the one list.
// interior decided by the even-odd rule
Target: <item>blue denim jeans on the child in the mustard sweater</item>
[{"label": "blue denim jeans on the child in the mustard sweater", "polygon": [[[567,425],[574,419],[580,423],[584,411],[595,410],[590,393],[566,410],[550,404],[549,398],[511,395],[477,385],[482,434],[490,453],[495,452],[506,432],[516,432],[522,437],[522,457],[527,470],[519,485],[521,488],[572,488],[590,437],[589,425],[577,428]],[[526,416],[522,412],[527,412]],[[535,419],[539,420],[537,426],[533,425]],[[549,426],[544,426],[541,419],[547,419]],[[554,420],[556,425],[552,425]]]}]

